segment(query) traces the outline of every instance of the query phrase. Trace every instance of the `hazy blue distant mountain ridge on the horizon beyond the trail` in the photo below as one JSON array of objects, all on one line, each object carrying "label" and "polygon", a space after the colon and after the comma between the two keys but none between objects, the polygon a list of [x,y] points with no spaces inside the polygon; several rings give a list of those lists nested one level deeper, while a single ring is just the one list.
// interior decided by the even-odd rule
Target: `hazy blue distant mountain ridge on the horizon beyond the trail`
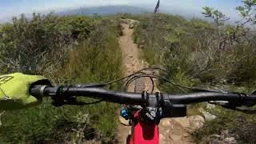
[{"label": "hazy blue distant mountain ridge on the horizon beyond the trail", "polygon": [[130,13],[130,14],[142,14],[145,12],[150,12],[149,9],[136,7],[136,6],[98,6],[98,7],[82,7],[74,10],[63,10],[59,11],[56,14],[58,15],[109,15],[117,13]]}]

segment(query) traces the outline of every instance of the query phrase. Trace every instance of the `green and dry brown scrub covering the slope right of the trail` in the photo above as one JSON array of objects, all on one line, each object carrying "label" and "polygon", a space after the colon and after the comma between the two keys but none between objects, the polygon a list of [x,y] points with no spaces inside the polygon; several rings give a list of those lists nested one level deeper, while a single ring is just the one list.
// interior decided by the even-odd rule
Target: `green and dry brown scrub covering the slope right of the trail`
[{"label": "green and dry brown scrub covering the slope right of the trail", "polygon": [[[246,37],[230,38],[234,30],[234,26],[216,26],[198,19],[148,14],[135,27],[134,42],[143,47],[142,55],[150,65],[163,66],[168,71],[162,76],[172,82],[250,94],[256,82],[255,31],[249,31]],[[239,27],[238,33],[243,30],[246,29]],[[223,44],[223,35],[231,40]],[[158,61],[151,62],[155,59]],[[164,92],[182,93],[168,82],[159,83]],[[189,114],[200,114],[198,107],[204,105],[188,106]],[[212,113],[218,118],[206,122],[202,129],[194,132],[196,142],[201,142],[210,134],[220,134],[222,130],[230,130],[239,143],[255,142],[254,114],[242,114],[221,107]]]}]

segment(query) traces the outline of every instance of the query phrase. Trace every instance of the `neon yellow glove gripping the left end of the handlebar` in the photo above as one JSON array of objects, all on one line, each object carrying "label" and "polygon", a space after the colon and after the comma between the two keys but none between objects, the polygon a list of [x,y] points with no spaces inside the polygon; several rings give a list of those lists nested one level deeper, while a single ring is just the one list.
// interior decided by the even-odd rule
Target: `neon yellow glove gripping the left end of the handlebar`
[{"label": "neon yellow glove gripping the left end of the handlebar", "polygon": [[18,110],[37,106],[42,97],[30,95],[30,87],[34,84],[50,85],[43,76],[22,73],[0,76],[0,110]]}]

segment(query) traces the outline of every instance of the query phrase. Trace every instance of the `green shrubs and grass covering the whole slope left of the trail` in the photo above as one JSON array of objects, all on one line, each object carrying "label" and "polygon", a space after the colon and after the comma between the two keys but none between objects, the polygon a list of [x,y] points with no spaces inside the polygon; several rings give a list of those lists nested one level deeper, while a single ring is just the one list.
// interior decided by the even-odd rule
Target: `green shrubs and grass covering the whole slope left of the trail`
[{"label": "green shrubs and grass covering the whole slope left of the trail", "polygon": [[[44,51],[51,53],[51,48],[60,44],[55,48],[65,49],[65,57],[53,60],[51,56],[57,57],[60,53],[52,51],[51,55],[45,57],[50,58],[50,63],[45,65],[46,70],[38,71],[42,69],[40,62],[43,61],[34,61],[36,67],[30,69],[26,67],[30,66],[30,63],[23,63],[24,69],[21,69],[21,72],[44,74],[54,84],[106,82],[122,76],[122,54],[118,46],[118,32],[120,31],[118,22],[98,16],[94,18],[80,16],[41,18],[35,15],[33,19],[35,18],[38,18],[36,25],[33,23],[34,20],[30,22],[26,21],[26,18],[17,19],[14,24],[6,25],[6,30],[16,30],[16,33],[6,35],[6,30],[2,30],[4,31],[2,36],[6,38],[0,39],[2,44],[0,51],[19,49],[20,52],[17,54],[22,54],[22,50],[39,48],[38,51],[34,51],[33,57],[39,59],[38,55],[43,54]],[[29,29],[30,26],[34,26],[34,29]],[[39,30],[41,34],[38,34],[36,30]],[[18,34],[22,35],[21,38],[18,37]],[[46,38],[49,36],[48,34],[52,38]],[[63,34],[70,34],[70,37],[67,38],[71,38],[67,39],[68,43],[65,45],[66,41],[58,41],[58,36],[63,36]],[[34,42],[33,46],[22,46],[30,41]],[[38,46],[41,44],[42,46]],[[7,48],[6,45],[10,46]],[[67,47],[68,49],[66,49]],[[1,56],[17,58],[5,55],[5,53],[0,53]],[[32,61],[26,59],[26,55],[21,56],[20,60]],[[2,67],[6,69],[2,69]],[[0,70],[5,70],[1,71],[2,73],[10,73],[18,69],[14,66],[1,65]],[[120,84],[115,84],[109,88],[118,89],[119,86]],[[79,100],[88,103],[95,102],[90,98],[79,98]],[[101,102],[87,106],[56,108],[51,106],[50,102],[49,98],[45,98],[38,107],[7,111],[2,115],[0,139],[8,143],[78,142],[80,138],[82,141],[96,139],[102,142],[111,142],[113,140],[118,105]],[[82,130],[84,126],[85,129]]]}]

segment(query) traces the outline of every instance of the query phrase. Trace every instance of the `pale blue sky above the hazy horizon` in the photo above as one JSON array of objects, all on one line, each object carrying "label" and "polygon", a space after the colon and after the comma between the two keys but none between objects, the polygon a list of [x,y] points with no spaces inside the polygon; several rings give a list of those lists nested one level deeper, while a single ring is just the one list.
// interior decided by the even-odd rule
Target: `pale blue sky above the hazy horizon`
[{"label": "pale blue sky above the hazy horizon", "polygon": [[[231,18],[237,18],[235,6],[242,0],[161,0],[160,10],[183,16],[199,16],[203,6],[222,10]],[[0,20],[18,14],[47,12],[50,10],[74,9],[76,7],[129,5],[142,6],[154,10],[157,0],[0,0]]]}]

